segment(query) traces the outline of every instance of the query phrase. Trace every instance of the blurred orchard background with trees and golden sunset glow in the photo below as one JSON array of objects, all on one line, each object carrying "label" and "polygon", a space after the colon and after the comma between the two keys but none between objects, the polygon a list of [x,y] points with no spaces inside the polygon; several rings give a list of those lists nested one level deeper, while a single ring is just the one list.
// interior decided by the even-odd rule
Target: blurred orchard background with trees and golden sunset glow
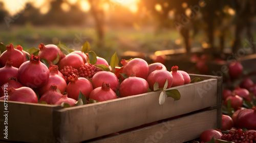
[{"label": "blurred orchard background with trees and golden sunset glow", "polygon": [[253,0],[0,0],[0,42],[80,50],[89,41],[106,60],[117,52],[237,53],[256,43]]}]

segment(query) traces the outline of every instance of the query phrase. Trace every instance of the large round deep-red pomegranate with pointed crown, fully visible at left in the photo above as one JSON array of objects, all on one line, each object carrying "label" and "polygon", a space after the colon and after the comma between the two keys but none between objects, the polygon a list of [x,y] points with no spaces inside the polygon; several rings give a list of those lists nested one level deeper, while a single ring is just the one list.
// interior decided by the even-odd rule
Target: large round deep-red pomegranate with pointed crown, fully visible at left
[{"label": "large round deep-red pomegranate with pointed crown, fully visible at left", "polygon": [[30,57],[30,61],[24,62],[18,69],[18,80],[25,86],[38,88],[47,83],[49,79],[48,67],[40,62],[39,56]]}]

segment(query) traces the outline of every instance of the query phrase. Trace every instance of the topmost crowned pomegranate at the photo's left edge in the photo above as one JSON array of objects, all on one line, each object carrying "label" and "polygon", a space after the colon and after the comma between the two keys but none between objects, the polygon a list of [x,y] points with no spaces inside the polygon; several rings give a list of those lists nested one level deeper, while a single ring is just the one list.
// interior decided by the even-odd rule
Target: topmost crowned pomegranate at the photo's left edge
[{"label": "topmost crowned pomegranate at the photo's left edge", "polygon": [[6,46],[6,51],[2,53],[0,56],[1,65],[5,65],[6,61],[12,61],[12,66],[19,68],[19,66],[23,63],[24,57],[23,53],[17,49],[14,49],[13,44]]}]

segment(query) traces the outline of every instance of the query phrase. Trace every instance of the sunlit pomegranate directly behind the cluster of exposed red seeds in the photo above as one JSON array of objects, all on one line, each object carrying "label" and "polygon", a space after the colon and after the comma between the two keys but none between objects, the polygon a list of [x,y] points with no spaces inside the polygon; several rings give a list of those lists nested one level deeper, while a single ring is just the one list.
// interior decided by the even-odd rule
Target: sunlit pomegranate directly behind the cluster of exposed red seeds
[{"label": "sunlit pomegranate directly behind the cluster of exposed red seeds", "polygon": [[81,65],[84,65],[83,59],[78,54],[68,54],[65,58],[59,61],[59,70],[64,66],[71,65],[73,68],[78,69]]}]

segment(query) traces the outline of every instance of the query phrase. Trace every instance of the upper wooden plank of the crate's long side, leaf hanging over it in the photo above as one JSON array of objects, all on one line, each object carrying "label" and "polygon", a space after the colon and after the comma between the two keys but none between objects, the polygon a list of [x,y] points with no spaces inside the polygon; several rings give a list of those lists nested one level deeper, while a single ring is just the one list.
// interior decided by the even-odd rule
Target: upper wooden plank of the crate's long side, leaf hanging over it
[{"label": "upper wooden plank of the crate's long side, leaf hanging over it", "polygon": [[[215,77],[216,78],[216,77]],[[79,142],[217,105],[218,79],[182,85],[181,99],[167,98],[159,105],[160,92],[57,110],[61,116],[59,137]]]}]

